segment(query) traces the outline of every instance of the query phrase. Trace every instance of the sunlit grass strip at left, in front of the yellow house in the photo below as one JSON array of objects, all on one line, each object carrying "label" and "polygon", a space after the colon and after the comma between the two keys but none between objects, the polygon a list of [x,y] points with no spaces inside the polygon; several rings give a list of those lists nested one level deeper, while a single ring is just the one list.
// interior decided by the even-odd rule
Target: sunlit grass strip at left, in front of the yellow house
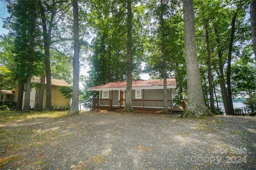
[{"label": "sunlit grass strip at left, in front of the yellow house", "polygon": [[68,115],[68,112],[66,111],[33,111],[31,113],[23,113],[22,111],[1,111],[0,122],[8,123],[10,121],[36,119],[43,117],[58,119],[61,117],[65,117],[66,115]]}]

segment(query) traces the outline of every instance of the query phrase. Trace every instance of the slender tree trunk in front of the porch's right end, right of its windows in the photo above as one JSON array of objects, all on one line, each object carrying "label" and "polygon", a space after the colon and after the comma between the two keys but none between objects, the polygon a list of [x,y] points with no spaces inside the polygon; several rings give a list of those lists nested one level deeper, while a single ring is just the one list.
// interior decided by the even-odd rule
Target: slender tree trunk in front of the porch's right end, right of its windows
[{"label": "slender tree trunk in front of the porch's right end, right of its windows", "polygon": [[164,5],[161,0],[160,6],[160,25],[161,25],[161,41],[162,41],[162,64],[163,64],[163,78],[164,78],[164,114],[168,114],[168,100],[167,100],[167,71],[166,71],[166,53],[165,53],[165,32],[164,32]]}]

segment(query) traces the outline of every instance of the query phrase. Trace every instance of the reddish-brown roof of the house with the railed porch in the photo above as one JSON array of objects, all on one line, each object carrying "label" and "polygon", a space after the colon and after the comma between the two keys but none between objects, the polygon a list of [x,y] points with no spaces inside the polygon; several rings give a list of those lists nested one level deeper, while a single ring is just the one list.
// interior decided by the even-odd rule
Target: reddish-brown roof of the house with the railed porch
[{"label": "reddish-brown roof of the house with the railed porch", "polygon": [[[169,88],[176,88],[176,80],[175,78],[167,79],[167,86]],[[126,81],[123,82],[110,82],[107,84],[103,84],[100,86],[95,86],[88,88],[89,90],[102,90],[102,89],[124,89],[126,88]],[[163,88],[164,80],[163,79],[156,79],[156,80],[134,80],[132,81],[132,88],[147,88],[147,89],[156,89],[156,88]]]}]

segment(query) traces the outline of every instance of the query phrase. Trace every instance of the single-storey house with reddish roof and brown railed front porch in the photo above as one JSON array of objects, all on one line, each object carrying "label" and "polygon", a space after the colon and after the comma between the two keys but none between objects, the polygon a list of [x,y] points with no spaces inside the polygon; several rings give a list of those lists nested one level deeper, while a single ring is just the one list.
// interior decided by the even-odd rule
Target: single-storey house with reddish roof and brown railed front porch
[{"label": "single-storey house with reddish roof and brown railed front porch", "polygon": [[[88,88],[99,91],[99,99],[93,96],[92,109],[122,109],[125,107],[126,81],[110,82],[104,85]],[[173,96],[176,80],[167,79],[168,109],[173,109]],[[93,93],[94,94],[94,93]],[[132,107],[134,109],[161,110],[164,108],[164,80],[134,80],[132,81]]]}]

